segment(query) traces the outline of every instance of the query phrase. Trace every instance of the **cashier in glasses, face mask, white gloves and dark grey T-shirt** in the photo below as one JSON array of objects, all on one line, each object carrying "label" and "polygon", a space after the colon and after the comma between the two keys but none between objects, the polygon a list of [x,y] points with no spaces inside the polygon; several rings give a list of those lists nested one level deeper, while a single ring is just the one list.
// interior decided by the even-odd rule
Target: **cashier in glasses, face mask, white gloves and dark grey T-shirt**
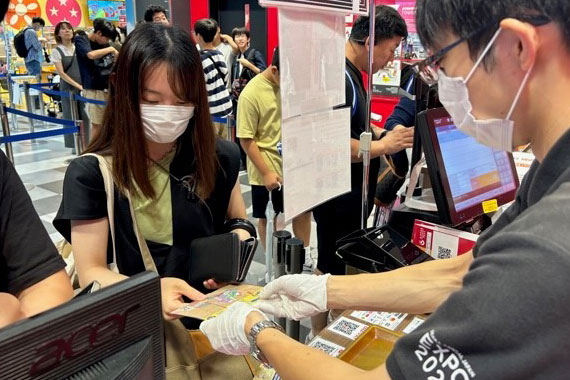
[{"label": "cashier in glasses, face mask, white gloves and dark grey T-shirt", "polygon": [[283,379],[567,379],[570,2],[418,0],[417,27],[427,48],[441,50],[418,71],[438,74],[458,127],[495,148],[531,144],[536,162],[514,204],[472,254],[381,274],[286,276],[266,287],[258,307],[267,315],[433,313],[374,370],[289,339],[243,304],[201,329],[220,351],[251,346]]}]

